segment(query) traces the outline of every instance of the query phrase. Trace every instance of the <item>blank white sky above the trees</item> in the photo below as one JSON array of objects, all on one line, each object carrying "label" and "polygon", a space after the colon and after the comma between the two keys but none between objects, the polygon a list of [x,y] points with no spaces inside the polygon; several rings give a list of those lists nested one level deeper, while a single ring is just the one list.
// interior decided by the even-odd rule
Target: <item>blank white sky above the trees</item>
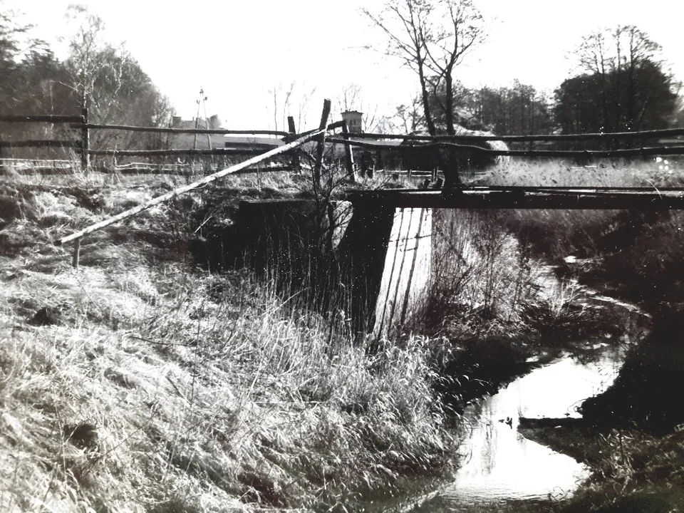
[{"label": "blank white sky above the trees", "polygon": [[[476,0],[477,1],[477,0]],[[36,26],[35,36],[67,35],[73,0],[8,0]],[[111,41],[125,41],[152,81],[184,118],[197,113],[204,88],[207,114],[227,128],[274,128],[274,86],[316,93],[304,109],[305,128],[318,125],[323,98],[338,103],[343,86],[358,83],[362,110],[391,113],[417,88],[410,71],[383,55],[384,41],[359,12],[381,0],[82,0],[105,20]],[[566,54],[581,36],[604,26],[635,24],[663,46],[684,81],[684,1],[480,0],[496,16],[487,43],[466,58],[456,77],[467,86],[507,86],[517,78],[553,90],[569,76]],[[377,51],[363,49],[371,45]],[[63,54],[58,56],[63,57]],[[570,74],[571,76],[571,74]],[[299,118],[299,108],[290,115]],[[202,113],[203,115],[203,113]],[[286,113],[287,115],[287,113]],[[282,120],[279,120],[282,128]]]}]

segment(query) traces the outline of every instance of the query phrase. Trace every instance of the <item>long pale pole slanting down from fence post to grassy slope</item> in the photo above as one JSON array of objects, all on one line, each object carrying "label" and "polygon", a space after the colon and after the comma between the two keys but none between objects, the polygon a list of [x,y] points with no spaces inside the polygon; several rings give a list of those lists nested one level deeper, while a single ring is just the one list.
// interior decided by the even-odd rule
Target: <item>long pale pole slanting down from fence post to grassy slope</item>
[{"label": "long pale pole slanting down from fence post to grassy slope", "polygon": [[214,182],[214,180],[218,180],[219,178],[222,178],[226,175],[231,175],[232,173],[243,170],[246,167],[258,164],[262,160],[266,160],[271,157],[275,157],[276,155],[280,155],[281,153],[288,152],[289,150],[301,146],[304,144],[304,142],[314,139],[321,134],[325,136],[325,132],[325,128],[321,130],[315,130],[313,133],[310,133],[309,135],[305,135],[304,137],[294,140],[289,144],[277,147],[274,150],[258,155],[257,157],[252,157],[249,160],[245,160],[244,162],[240,162],[239,164],[227,167],[224,170],[217,171],[213,175],[209,175],[207,177],[202,178],[202,180],[197,180],[197,182],[192,182],[191,184],[178,187],[177,189],[172,190],[171,192],[167,192],[165,195],[157,196],[153,199],[150,199],[150,201],[140,204],[138,205],[138,207],[133,207],[131,209],[126,210],[125,212],[121,212],[120,214],[105,219],[104,221],[92,224],[88,228],[82,229],[80,232],[73,233],[71,235],[68,235],[67,237],[63,237],[55,241],[55,244],[57,246],[61,246],[62,244],[66,244],[67,242],[71,242],[75,239],[81,239],[83,235],[87,235],[89,233],[97,231],[98,229],[108,227],[110,224],[114,224],[115,222],[134,216],[135,214],[139,214],[143,210],[146,210],[150,207],[154,207],[156,204],[163,203],[173,197],[185,194],[185,192],[190,192],[191,190],[197,189],[197,187],[201,187],[202,185],[207,185],[208,183]]}]

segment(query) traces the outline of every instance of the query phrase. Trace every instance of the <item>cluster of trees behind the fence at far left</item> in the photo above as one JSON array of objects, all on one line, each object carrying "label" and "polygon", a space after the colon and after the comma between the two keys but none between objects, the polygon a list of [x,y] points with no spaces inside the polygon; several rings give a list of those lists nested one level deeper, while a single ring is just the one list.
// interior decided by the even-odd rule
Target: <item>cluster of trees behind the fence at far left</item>
[{"label": "cluster of trees behind the fence at far left", "polygon": [[[125,46],[105,39],[105,24],[85,6],[72,4],[66,13],[68,56],[56,58],[45,41],[31,36],[28,24],[0,0],[0,113],[80,114],[98,124],[168,126],[170,100],[152,83]],[[60,138],[61,125],[6,125],[7,139]],[[157,134],[134,135],[98,130],[93,149],[157,149],[165,144]]]}]

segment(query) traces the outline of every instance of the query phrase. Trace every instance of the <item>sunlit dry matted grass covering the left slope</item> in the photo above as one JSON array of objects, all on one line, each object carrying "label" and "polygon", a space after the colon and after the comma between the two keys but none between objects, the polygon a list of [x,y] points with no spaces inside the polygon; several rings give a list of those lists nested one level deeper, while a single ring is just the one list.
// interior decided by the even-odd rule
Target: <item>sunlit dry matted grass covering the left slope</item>
[{"label": "sunlit dry matted grass covering the left slope", "polygon": [[[428,341],[369,356],[246,274],[192,269],[201,195],[91,234],[71,269],[53,239],[175,185],[146,180],[0,185],[0,509],[353,510],[450,473]],[[227,187],[300,187],[272,180]]]}]

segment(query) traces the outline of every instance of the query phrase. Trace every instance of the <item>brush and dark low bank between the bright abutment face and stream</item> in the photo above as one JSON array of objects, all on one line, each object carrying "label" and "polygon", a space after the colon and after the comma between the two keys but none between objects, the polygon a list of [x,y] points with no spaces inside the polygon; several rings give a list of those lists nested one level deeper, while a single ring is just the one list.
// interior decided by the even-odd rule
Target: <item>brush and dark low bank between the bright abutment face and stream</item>
[{"label": "brush and dark low bank between the bright abutment face and stream", "polygon": [[457,408],[560,351],[618,340],[630,312],[556,276],[505,223],[506,212],[433,211],[432,284],[407,332],[433,344],[438,389]]}]

